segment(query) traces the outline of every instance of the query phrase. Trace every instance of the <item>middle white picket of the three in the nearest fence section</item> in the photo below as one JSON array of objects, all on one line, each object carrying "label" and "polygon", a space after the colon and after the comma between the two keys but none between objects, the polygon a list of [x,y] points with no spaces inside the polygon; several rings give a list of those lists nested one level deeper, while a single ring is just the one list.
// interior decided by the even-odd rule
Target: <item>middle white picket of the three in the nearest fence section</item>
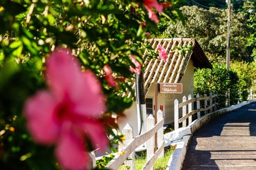
[{"label": "middle white picket of the three in the nearest fence section", "polygon": [[[153,115],[149,115],[147,118],[147,131],[152,129],[152,127],[155,125],[155,118]],[[155,135],[153,135],[147,142],[147,161],[154,155],[155,152]],[[153,170],[153,167],[150,168]]]}]

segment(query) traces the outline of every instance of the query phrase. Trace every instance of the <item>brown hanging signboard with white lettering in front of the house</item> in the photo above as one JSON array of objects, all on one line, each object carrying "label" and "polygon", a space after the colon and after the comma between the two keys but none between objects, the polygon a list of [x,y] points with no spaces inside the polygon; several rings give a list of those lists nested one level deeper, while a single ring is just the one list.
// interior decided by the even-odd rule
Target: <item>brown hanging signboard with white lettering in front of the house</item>
[{"label": "brown hanging signboard with white lettering in front of the house", "polygon": [[157,93],[182,94],[182,83],[157,83]]}]

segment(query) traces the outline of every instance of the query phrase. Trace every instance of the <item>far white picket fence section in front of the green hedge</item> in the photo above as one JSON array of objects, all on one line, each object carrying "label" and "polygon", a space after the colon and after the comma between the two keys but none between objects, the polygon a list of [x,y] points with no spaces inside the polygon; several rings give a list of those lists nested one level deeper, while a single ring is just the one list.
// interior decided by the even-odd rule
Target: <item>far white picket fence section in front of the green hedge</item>
[{"label": "far white picket fence section in front of the green hedge", "polygon": [[[197,113],[197,119],[201,117],[201,112],[205,114],[212,113],[216,111],[216,99],[217,95],[210,93],[209,96],[206,94],[204,97],[200,97],[199,94],[196,98],[191,98],[188,95],[188,100],[186,96],[183,96],[182,103],[179,103],[178,99],[174,100],[174,130],[179,129],[179,123],[182,123],[182,127],[186,127],[192,122],[192,115]],[[204,107],[201,108],[200,101],[204,100]],[[196,109],[193,109],[194,102],[196,102]],[[179,118],[179,108],[182,108],[182,117]],[[188,108],[188,109],[187,109]],[[188,120],[188,121],[187,121]]]}]

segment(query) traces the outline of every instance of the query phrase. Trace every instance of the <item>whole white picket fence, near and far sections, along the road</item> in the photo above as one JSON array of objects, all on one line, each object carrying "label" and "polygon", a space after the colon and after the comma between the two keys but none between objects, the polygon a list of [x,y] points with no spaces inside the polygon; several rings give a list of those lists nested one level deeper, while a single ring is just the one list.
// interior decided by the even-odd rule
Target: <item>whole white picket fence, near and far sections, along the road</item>
[{"label": "whole white picket fence, near and far sections, along the road", "polygon": [[[256,95],[249,91],[248,99],[252,99]],[[198,94],[196,98],[192,98],[191,95],[183,96],[182,102],[179,103],[178,99],[174,100],[174,130],[179,129],[179,124],[182,123],[182,127],[192,123],[192,116],[197,114],[197,119],[201,117],[201,113],[204,115],[212,113],[217,110],[216,103],[217,95],[210,93],[202,97]],[[194,109],[195,107],[195,109]],[[182,111],[182,116],[179,115],[179,110]],[[160,157],[164,156],[164,139],[163,139],[163,112],[159,110],[157,112],[157,123],[155,124],[155,118],[153,115],[149,115],[146,121],[147,128],[145,133],[138,137],[133,137],[133,131],[129,124],[126,124],[123,129],[125,135],[125,141],[123,145],[119,145],[119,153],[105,166],[105,168],[116,170],[122,164],[125,169],[135,169],[135,149],[145,145],[147,162],[142,169],[153,169],[154,163]],[[157,146],[157,147],[156,147]],[[95,161],[94,161],[95,164]],[[129,168],[128,168],[129,167]]]}]

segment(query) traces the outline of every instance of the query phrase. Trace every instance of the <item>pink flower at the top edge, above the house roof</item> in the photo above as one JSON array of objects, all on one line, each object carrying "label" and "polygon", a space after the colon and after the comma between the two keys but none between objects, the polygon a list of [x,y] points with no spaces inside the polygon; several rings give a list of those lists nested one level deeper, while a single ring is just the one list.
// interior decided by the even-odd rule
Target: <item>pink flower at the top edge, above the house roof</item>
[{"label": "pink flower at the top edge, above the house roof", "polygon": [[150,20],[154,21],[155,23],[158,23],[158,17],[152,10],[154,7],[157,12],[162,13],[163,12],[163,5],[159,4],[156,0],[143,0],[143,4],[148,11],[148,17]]}]

